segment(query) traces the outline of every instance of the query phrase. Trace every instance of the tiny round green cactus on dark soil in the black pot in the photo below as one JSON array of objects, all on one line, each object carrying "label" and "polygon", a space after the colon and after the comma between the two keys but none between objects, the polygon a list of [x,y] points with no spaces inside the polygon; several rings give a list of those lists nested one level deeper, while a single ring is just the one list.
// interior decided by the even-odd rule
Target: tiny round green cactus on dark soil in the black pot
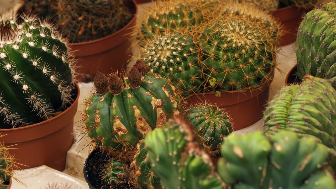
[{"label": "tiny round green cactus on dark soil in the black pot", "polygon": [[103,180],[111,186],[124,182],[125,174],[127,176],[128,167],[121,160],[111,159],[103,169]]}]

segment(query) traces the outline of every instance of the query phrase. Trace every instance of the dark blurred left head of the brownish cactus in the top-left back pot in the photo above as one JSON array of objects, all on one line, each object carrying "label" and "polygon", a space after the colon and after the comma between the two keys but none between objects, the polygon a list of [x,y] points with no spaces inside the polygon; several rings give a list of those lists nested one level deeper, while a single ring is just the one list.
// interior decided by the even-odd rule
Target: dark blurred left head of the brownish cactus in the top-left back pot
[{"label": "dark blurred left head of the brownish cactus in the top-left back pot", "polygon": [[52,0],[25,0],[25,11],[34,12],[39,18],[49,19],[55,16],[57,1]]}]

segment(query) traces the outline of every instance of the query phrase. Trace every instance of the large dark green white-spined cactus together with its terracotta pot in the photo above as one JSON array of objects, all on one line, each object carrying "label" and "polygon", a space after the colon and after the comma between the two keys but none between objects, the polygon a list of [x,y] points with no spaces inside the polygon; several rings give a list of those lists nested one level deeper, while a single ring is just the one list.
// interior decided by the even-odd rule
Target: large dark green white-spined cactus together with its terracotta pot
[{"label": "large dark green white-spined cactus together with its terracotta pot", "polygon": [[[20,19],[20,20],[19,20]],[[0,132],[18,163],[65,168],[79,97],[67,40],[35,15],[0,21]]]}]

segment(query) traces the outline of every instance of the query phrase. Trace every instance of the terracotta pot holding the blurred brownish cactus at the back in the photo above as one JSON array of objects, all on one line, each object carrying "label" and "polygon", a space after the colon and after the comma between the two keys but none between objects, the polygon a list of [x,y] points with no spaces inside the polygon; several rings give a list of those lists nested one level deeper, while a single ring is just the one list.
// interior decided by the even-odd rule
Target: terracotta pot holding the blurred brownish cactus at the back
[{"label": "terracotta pot holding the blurred brownish cactus at the back", "polygon": [[134,14],[132,20],[112,35],[93,41],[70,43],[75,58],[79,58],[78,66],[81,66],[77,72],[83,74],[77,78],[79,81],[93,80],[97,71],[109,74],[112,70],[126,68],[131,55],[130,32],[135,25],[138,13],[138,7],[134,0],[130,3],[129,8]]}]

